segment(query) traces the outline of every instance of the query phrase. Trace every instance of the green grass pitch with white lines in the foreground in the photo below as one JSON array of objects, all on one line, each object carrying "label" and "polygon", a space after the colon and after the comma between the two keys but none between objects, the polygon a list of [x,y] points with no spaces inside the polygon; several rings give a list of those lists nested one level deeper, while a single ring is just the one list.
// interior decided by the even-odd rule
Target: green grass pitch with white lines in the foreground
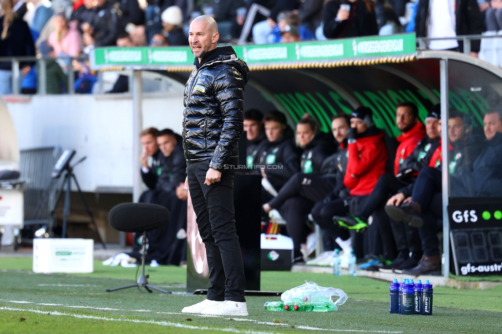
[{"label": "green grass pitch with white lines in the foreground", "polygon": [[[268,312],[266,301],[248,296],[249,317],[202,317],[180,313],[201,295],[137,289],[135,268],[104,267],[92,274],[34,274],[31,258],[0,258],[1,333],[502,333],[502,285],[487,290],[434,288],[433,316],[389,314],[388,283],[365,277],[262,272],[262,290],[284,291],[314,281],[343,289],[349,300],[337,312]],[[185,291],[186,269],[147,267],[151,283]]]}]

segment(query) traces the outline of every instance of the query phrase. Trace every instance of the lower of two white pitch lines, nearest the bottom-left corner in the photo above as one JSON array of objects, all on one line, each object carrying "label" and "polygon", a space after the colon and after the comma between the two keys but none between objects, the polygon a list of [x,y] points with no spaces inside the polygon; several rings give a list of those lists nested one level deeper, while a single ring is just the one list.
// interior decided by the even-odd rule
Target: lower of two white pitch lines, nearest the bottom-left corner
[{"label": "lower of two white pitch lines, nearest the bottom-left corner", "polygon": [[187,329],[199,329],[199,330],[220,330],[232,333],[249,333],[249,334],[274,334],[273,332],[266,331],[256,331],[256,330],[239,330],[237,328],[221,328],[221,327],[207,327],[207,326],[191,326],[184,325],[176,322],[168,322],[168,321],[153,321],[153,320],[137,320],[137,319],[120,319],[120,318],[105,318],[105,317],[95,317],[95,316],[84,316],[82,314],[70,314],[63,313],[59,311],[41,311],[35,309],[23,309],[23,308],[15,308],[15,307],[0,307],[0,310],[6,311],[21,311],[21,312],[32,312],[39,314],[47,314],[50,316],[65,316],[65,317],[73,317],[78,319],[94,319],[94,320],[104,320],[104,321],[126,321],[140,324],[153,324],[160,326],[169,326],[169,327],[178,327],[178,328],[187,328]]}]

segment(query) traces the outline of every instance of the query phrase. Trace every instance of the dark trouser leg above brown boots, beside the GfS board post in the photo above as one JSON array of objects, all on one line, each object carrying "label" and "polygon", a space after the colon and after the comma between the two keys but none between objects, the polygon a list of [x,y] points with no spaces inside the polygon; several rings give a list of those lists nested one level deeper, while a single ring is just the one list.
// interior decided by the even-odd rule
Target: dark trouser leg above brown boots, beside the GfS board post
[{"label": "dark trouser leg above brown boots, beside the GfS board post", "polygon": [[439,255],[438,232],[442,229],[439,224],[443,219],[443,197],[442,193],[436,193],[432,197],[428,210],[422,212],[424,225],[418,229],[422,240],[422,250],[424,255]]}]

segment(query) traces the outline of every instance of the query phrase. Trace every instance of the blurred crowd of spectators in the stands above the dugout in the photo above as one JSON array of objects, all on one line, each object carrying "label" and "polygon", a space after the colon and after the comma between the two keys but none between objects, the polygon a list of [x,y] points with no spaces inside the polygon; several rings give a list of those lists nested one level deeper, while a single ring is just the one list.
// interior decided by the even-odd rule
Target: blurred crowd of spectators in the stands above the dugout
[{"label": "blurred crowd of spectators in the stands above the dugout", "polygon": [[[326,40],[415,31],[418,37],[480,34],[502,27],[499,0],[2,0],[0,57],[78,57],[102,46],[187,45],[188,25],[201,14],[219,24],[220,43],[237,43],[249,8],[261,5],[268,16],[254,17],[247,42],[256,44]],[[253,17],[250,18],[253,20]],[[479,41],[471,44],[472,55]],[[428,48],[462,51],[462,42],[433,40]],[[88,62],[48,60],[47,94],[88,93],[97,78]],[[0,63],[0,94],[12,93],[12,65]],[[21,62],[22,92],[34,94],[40,69]],[[127,91],[127,77],[110,92]]]}]

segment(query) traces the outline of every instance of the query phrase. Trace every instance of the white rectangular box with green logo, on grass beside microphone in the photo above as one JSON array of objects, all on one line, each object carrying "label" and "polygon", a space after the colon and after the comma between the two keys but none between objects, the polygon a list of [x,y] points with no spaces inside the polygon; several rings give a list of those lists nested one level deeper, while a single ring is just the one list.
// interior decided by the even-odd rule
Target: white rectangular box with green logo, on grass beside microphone
[{"label": "white rectangular box with green logo, on grass beside microphone", "polygon": [[33,239],[33,272],[94,271],[93,239]]}]

